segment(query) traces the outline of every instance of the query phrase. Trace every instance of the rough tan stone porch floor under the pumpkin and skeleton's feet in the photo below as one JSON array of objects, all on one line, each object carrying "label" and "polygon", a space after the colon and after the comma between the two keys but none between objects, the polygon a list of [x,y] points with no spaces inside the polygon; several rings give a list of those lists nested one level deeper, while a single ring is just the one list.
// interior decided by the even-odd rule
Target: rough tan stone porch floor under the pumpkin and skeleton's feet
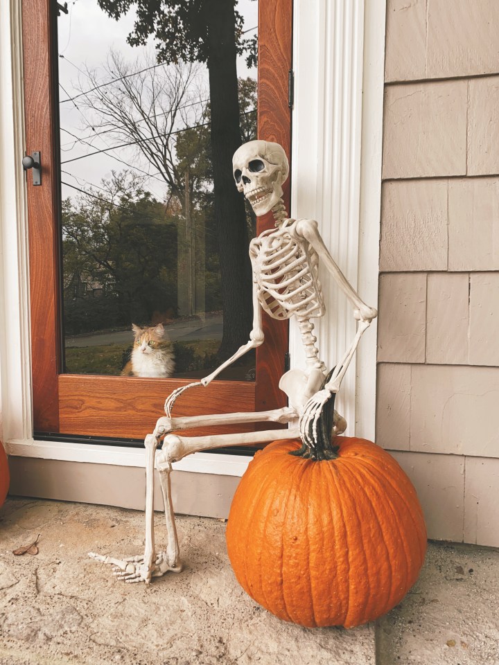
[{"label": "rough tan stone porch floor under the pumpkin and skeleton's feet", "polygon": [[[161,513],[155,522],[161,547]],[[87,552],[141,553],[143,513],[8,499],[0,665],[499,664],[496,550],[430,544],[419,582],[376,631],[309,630],[279,621],[240,589],[224,522],[180,516],[177,528],[182,574],[127,585]],[[12,554],[38,533],[37,556]]]}]

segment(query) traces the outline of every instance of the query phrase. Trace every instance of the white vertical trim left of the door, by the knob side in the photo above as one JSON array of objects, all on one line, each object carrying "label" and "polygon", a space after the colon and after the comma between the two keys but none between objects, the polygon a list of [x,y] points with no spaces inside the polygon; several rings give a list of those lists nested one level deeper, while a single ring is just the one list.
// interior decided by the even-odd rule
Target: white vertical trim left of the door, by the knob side
[{"label": "white vertical trim left of the door, by the knob side", "polygon": [[32,432],[21,3],[0,1],[0,413],[3,440]]}]

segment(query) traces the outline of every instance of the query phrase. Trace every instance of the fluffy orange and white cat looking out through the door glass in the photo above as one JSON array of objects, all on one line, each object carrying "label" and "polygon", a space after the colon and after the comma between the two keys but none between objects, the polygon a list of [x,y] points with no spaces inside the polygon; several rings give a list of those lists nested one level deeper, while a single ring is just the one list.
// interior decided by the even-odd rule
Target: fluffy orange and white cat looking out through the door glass
[{"label": "fluffy orange and white cat looking out through the door glass", "polygon": [[132,323],[134,345],[130,360],[122,376],[166,378],[175,371],[173,350],[163,323],[150,328],[139,328]]}]

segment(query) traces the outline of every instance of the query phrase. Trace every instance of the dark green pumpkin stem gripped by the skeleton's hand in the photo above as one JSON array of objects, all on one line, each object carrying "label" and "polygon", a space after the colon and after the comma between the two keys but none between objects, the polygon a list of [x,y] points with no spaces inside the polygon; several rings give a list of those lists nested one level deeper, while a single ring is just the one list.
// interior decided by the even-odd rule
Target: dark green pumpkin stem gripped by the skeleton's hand
[{"label": "dark green pumpkin stem gripped by the skeleton's hand", "polygon": [[[322,382],[321,390],[331,379],[333,371],[329,372]],[[290,455],[303,457],[304,459],[314,459],[320,461],[323,459],[337,459],[339,457],[339,445],[333,445],[333,427],[334,427],[334,405],[336,393],[331,396],[322,406],[318,414],[315,414],[308,423],[308,432],[302,434],[302,445],[299,450],[290,451]]]}]

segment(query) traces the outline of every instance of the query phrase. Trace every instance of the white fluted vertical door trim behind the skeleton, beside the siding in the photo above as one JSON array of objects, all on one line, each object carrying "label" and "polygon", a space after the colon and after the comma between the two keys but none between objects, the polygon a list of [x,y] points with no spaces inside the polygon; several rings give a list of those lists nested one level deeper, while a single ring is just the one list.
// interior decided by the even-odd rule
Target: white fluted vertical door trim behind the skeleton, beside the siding
[{"label": "white fluted vertical door trim behind the skeleton, beside the siding", "polygon": [[[379,63],[384,60],[385,3],[373,0],[367,5],[365,13],[363,0],[296,1],[291,215],[317,220],[348,281],[362,300],[376,305],[381,164],[377,138],[383,123],[383,96],[378,91],[383,87]],[[371,172],[366,159],[374,166]],[[315,321],[315,330],[322,360],[331,369],[353,339],[356,324],[349,303],[326,274],[322,284],[326,315]],[[376,326],[365,333],[362,346],[362,364],[357,362],[356,373],[352,361],[338,395],[338,409],[350,425],[347,434],[374,436]],[[304,367],[293,322],[290,353],[292,366]],[[369,399],[361,407],[366,395]]]}]

